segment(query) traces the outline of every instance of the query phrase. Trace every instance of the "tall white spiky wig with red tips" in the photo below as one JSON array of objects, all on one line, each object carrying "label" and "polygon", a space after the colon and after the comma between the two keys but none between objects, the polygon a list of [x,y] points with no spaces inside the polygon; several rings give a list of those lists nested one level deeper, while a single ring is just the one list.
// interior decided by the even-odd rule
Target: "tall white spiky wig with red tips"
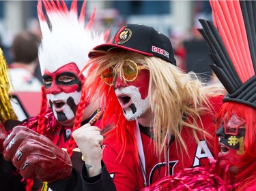
[{"label": "tall white spiky wig with red tips", "polygon": [[81,71],[89,60],[89,50],[104,43],[104,35],[96,34],[91,29],[95,10],[85,26],[85,4],[86,1],[83,1],[78,16],[77,1],[72,1],[70,10],[64,1],[38,1],[38,18],[42,31],[38,58],[42,74],[45,69],[53,73],[68,63],[75,63]]}]

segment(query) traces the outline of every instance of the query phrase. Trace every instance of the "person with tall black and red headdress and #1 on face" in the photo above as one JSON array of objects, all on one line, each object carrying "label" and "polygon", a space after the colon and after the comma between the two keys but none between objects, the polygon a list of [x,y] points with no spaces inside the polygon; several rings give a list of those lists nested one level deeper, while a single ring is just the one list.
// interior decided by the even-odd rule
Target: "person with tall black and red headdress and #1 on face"
[{"label": "person with tall black and red headdress and #1 on face", "polygon": [[[213,23],[200,20],[211,65],[227,89],[216,118],[224,180],[233,190],[256,190],[255,1],[210,1]],[[230,188],[227,190],[231,190]]]}]

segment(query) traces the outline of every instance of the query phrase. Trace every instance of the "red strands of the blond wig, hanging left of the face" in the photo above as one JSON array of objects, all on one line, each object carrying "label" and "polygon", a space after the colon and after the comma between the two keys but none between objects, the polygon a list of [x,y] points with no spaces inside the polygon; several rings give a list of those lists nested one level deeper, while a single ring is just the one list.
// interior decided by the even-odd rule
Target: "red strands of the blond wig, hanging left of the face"
[{"label": "red strands of the blond wig, hanging left of the face", "polygon": [[[91,63],[89,63],[82,71],[87,70],[88,67],[88,73],[94,73],[98,66],[94,64],[91,65]],[[100,75],[94,79],[94,83],[86,84],[86,86],[87,90],[90,90],[90,92],[87,94],[88,100],[93,99],[94,94],[98,94],[101,97],[100,107],[104,111],[101,126],[103,128],[111,125],[114,127],[111,128],[110,131],[106,131],[106,133],[104,133],[104,139],[109,139],[110,137],[115,136],[115,139],[122,143],[121,152],[119,153],[121,158],[124,156],[127,145],[133,145],[134,153],[138,153],[137,139],[135,136],[136,122],[126,120],[123,114],[123,109],[116,97],[114,88],[106,85],[101,79]],[[138,155],[137,162],[139,162]]]}]

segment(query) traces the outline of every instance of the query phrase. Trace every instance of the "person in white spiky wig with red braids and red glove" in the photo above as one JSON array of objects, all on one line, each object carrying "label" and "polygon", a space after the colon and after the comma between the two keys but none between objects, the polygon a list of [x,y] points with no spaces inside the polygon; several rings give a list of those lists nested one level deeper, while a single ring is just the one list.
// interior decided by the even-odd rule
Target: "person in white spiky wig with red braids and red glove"
[{"label": "person in white spiky wig with red braids and red glove", "polygon": [[[90,101],[81,99],[87,94],[83,84],[88,75],[81,70],[91,48],[104,43],[109,31],[98,34],[92,30],[95,10],[85,25],[85,4],[78,16],[76,0],[70,9],[64,1],[38,1],[42,31],[38,58],[44,79],[40,114],[14,127],[3,141],[3,156],[26,179],[27,191],[40,189],[42,181],[43,190],[71,190],[70,181],[80,178],[83,165],[72,131],[86,123],[100,126],[98,94]],[[18,144],[12,146],[17,139]],[[51,188],[51,182],[62,179],[61,188],[59,184]]]}]

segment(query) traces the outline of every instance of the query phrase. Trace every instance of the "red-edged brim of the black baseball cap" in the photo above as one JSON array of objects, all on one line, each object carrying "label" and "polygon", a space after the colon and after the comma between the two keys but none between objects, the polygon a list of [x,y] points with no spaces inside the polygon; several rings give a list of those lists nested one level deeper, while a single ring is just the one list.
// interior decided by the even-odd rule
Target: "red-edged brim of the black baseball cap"
[{"label": "red-edged brim of the black baseball cap", "polygon": [[[142,51],[139,51],[139,50],[135,50],[133,48],[128,48],[126,46],[121,46],[121,45],[118,45],[118,44],[101,44],[101,45],[98,45],[96,47],[94,47],[92,50],[104,50],[104,51],[109,51],[113,48],[120,48],[120,49],[124,49],[124,50],[130,50],[132,52],[137,52],[139,54],[143,54],[143,55],[146,55],[146,56],[154,56],[153,54],[151,53],[148,53],[148,52],[142,52]],[[91,56],[94,56],[94,52],[90,51],[89,54],[88,54],[89,58],[91,58]]]}]

